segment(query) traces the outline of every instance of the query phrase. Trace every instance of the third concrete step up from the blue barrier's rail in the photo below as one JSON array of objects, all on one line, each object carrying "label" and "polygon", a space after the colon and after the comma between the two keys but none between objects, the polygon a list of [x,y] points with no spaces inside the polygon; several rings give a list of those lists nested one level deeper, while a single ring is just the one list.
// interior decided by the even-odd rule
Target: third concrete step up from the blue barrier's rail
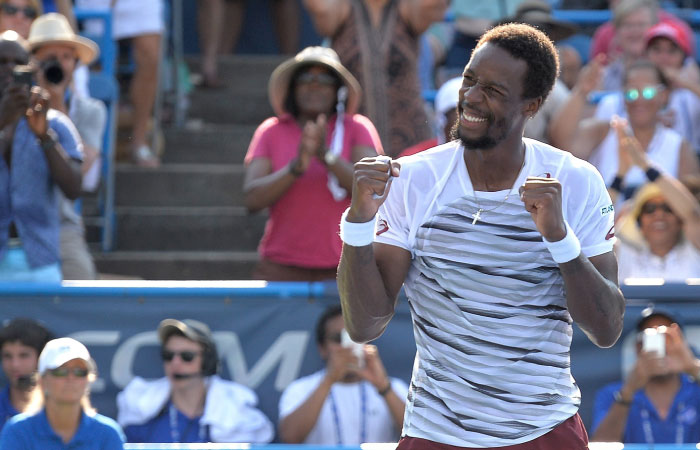
[{"label": "third concrete step up from the blue barrier's rail", "polygon": [[242,206],[240,164],[116,165],[117,206]]}]

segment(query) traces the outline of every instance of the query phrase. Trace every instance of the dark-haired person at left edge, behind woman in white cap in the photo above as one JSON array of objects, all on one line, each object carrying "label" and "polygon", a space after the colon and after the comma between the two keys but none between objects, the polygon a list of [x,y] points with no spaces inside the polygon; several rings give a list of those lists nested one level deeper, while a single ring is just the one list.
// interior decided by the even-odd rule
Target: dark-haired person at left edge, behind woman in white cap
[{"label": "dark-haired person at left edge, behind woman in white cap", "polygon": [[0,359],[8,380],[0,391],[0,429],[13,416],[41,408],[37,366],[41,350],[52,338],[49,330],[32,319],[13,319],[0,330]]}]

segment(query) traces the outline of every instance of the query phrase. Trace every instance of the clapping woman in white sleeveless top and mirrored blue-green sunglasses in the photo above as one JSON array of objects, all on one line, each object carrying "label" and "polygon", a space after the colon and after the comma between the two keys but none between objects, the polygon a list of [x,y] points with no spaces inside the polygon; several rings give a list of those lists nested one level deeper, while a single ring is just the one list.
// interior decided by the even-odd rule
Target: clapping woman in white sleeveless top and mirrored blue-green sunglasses
[{"label": "clapping woman in white sleeveless top and mirrored blue-green sunglasses", "polygon": [[[559,111],[553,124],[556,145],[585,159],[600,171],[606,185],[620,192],[620,199],[631,197],[644,184],[648,174],[621,158],[620,138],[611,126],[611,120],[584,119],[588,94],[596,83],[593,71],[587,71],[574,87],[567,103]],[[667,128],[659,113],[668,102],[669,84],[666,77],[650,61],[632,63],[623,79],[625,112],[629,127],[626,135],[634,136],[649,161],[658,170],[674,177],[700,172],[698,159],[690,145],[678,132]],[[653,181],[653,180],[652,180]]]}]

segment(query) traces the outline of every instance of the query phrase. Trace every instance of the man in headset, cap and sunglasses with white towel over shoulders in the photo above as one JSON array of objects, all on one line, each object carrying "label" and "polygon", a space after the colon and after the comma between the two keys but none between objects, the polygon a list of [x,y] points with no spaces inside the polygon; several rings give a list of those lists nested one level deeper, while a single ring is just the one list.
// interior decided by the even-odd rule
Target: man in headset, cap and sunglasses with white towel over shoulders
[{"label": "man in headset, cap and sunglasses with white towel over shoulders", "polygon": [[127,442],[249,442],[274,437],[246,386],[220,378],[209,327],[165,319],[158,326],[165,377],[136,377],[117,396],[117,421]]}]

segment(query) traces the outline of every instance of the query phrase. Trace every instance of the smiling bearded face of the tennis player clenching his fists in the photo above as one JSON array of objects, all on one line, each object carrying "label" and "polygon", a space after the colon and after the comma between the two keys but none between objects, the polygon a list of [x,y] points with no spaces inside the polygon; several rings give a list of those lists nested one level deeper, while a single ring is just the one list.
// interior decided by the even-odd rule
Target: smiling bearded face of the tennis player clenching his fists
[{"label": "smiling bearded face of the tennis player clenching his fists", "polygon": [[520,145],[525,121],[541,101],[523,98],[527,70],[526,61],[498,45],[478,47],[464,70],[453,137],[468,150],[489,150],[511,141]]}]

